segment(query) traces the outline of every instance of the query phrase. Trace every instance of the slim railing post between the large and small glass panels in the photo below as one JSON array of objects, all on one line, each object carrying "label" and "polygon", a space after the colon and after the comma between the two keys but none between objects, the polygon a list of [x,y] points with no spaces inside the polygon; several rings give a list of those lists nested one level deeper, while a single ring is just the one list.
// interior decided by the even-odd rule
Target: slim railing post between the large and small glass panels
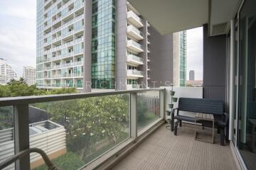
[{"label": "slim railing post between the large and small glass panels", "polygon": [[130,95],[130,121],[131,137],[137,140],[137,93]]}]

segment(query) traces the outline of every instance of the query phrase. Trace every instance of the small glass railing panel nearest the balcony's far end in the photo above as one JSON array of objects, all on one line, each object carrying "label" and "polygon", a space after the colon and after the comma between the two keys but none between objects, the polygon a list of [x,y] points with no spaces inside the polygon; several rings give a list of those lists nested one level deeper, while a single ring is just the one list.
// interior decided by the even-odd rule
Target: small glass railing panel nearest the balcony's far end
[{"label": "small glass railing panel nearest the balcony's far end", "polygon": [[146,91],[137,95],[138,131],[158,119],[159,91]]}]

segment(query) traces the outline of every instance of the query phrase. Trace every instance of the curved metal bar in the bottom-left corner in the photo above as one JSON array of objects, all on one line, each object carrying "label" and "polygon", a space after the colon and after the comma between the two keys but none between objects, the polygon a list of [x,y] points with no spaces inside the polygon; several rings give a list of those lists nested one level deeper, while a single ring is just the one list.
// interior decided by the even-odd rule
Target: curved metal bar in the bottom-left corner
[{"label": "curved metal bar in the bottom-left corner", "polygon": [[53,164],[53,162],[50,161],[46,152],[44,152],[42,149],[38,149],[38,148],[30,148],[30,149],[25,149],[21,152],[18,152],[18,154],[15,154],[14,156],[10,157],[9,159],[6,159],[4,162],[1,162],[0,169],[4,169],[6,166],[9,166],[10,164],[16,162],[18,159],[21,159],[22,157],[25,157],[26,155],[29,155],[32,152],[41,154],[41,157],[43,157],[43,161],[46,162],[46,165],[48,166],[48,170],[61,170],[57,166],[55,166]]}]

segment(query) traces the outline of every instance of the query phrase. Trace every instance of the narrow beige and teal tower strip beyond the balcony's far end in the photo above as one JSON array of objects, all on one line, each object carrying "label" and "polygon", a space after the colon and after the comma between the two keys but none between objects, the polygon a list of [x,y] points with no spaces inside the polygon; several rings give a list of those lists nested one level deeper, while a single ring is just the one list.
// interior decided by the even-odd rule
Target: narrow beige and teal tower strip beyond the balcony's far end
[{"label": "narrow beige and teal tower strip beyond the balcony's far end", "polygon": [[174,33],[174,86],[186,86],[186,30]]}]

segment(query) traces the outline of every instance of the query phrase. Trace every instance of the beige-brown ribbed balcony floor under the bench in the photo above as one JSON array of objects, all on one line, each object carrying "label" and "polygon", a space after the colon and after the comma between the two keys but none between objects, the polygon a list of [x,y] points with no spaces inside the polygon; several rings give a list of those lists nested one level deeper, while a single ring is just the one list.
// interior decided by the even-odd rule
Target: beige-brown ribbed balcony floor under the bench
[{"label": "beige-brown ribbed balcony floor under the bench", "polygon": [[[184,125],[178,136],[163,125],[142,142],[114,170],[237,169],[229,145],[194,140],[194,129]],[[216,137],[218,138],[218,136]]]}]

